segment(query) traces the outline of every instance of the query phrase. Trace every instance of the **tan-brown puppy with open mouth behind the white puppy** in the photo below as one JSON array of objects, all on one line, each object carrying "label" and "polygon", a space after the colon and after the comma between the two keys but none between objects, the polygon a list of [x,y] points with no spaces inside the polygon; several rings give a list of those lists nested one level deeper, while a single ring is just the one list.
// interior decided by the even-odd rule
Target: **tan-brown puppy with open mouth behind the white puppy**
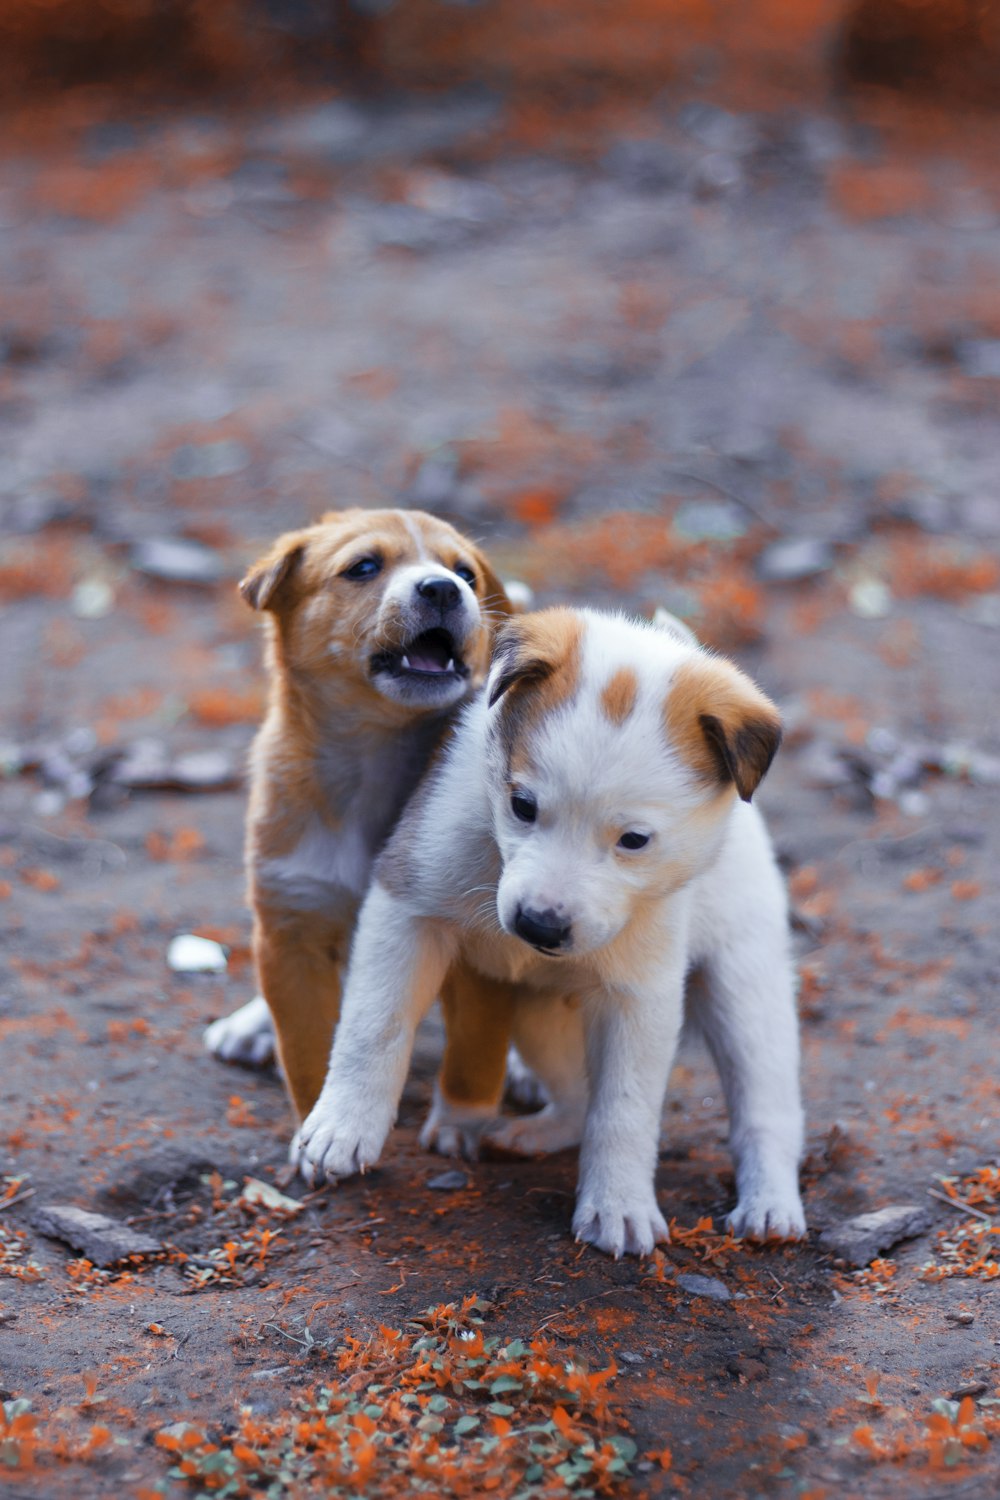
[{"label": "tan-brown puppy with open mouth behind the white puppy", "polygon": [[510,603],[478,548],[403,510],[345,510],[288,532],[240,591],[268,618],[246,836],[262,998],[205,1041],[262,1060],[273,1018],[301,1119],[324,1080],[375,855],[454,708],[481,686]]}]

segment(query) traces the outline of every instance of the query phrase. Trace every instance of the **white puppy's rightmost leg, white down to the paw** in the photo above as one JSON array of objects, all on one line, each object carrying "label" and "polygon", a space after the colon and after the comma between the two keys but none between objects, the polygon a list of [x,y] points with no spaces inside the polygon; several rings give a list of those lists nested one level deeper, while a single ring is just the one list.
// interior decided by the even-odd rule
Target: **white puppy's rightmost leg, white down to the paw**
[{"label": "white puppy's rightmost leg, white down to the paw", "polygon": [[799,1035],[784,932],[748,927],[712,954],[691,993],[691,1018],[708,1041],[729,1104],[733,1233],[804,1234]]}]

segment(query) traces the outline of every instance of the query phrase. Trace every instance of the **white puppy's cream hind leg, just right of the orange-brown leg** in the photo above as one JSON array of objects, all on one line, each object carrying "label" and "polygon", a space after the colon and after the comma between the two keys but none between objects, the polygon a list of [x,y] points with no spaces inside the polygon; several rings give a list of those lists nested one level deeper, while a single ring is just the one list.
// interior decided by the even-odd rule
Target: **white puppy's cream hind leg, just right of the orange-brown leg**
[{"label": "white puppy's cream hind leg, just right of the orange-brown leg", "polygon": [[514,1042],[549,1102],[535,1114],[489,1125],[484,1142],[519,1156],[579,1146],[586,1119],[583,1017],[574,996],[525,996],[514,1012]]}]

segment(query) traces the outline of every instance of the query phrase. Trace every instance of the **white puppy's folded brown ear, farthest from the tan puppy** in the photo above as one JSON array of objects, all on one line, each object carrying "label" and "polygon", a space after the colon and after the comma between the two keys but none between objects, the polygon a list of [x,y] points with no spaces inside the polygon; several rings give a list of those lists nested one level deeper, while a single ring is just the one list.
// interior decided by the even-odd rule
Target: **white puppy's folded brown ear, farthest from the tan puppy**
[{"label": "white puppy's folded brown ear, farthest from the tan puppy", "polygon": [[745,802],[781,744],[781,716],[771,699],[718,657],[694,657],[678,668],[664,728],[669,744],[703,782],[735,786]]}]

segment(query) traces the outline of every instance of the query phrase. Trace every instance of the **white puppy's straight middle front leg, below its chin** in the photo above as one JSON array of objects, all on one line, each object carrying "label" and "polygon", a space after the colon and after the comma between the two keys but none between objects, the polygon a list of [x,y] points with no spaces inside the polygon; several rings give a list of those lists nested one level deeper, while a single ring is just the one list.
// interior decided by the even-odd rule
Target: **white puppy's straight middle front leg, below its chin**
[{"label": "white puppy's straight middle front leg, below its chin", "polygon": [[684,974],[657,988],[609,992],[585,1005],[591,1107],[573,1230],[610,1256],[649,1256],[669,1239],[657,1204],[660,1114],[678,1046]]}]

